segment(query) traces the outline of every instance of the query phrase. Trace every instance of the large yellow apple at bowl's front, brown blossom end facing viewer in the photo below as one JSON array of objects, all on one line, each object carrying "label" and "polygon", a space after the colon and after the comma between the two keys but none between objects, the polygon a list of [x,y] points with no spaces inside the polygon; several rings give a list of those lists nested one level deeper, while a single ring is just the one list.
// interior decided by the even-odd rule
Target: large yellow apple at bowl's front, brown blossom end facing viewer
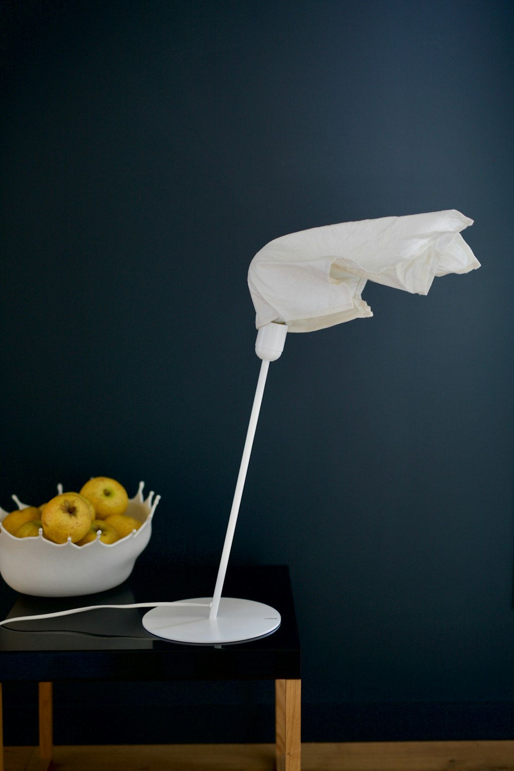
[{"label": "large yellow apple at bowl's front, brown blossom end facing viewer", "polygon": [[46,503],[41,514],[43,533],[56,544],[73,544],[83,538],[91,527],[91,511],[78,493],[63,493]]}]

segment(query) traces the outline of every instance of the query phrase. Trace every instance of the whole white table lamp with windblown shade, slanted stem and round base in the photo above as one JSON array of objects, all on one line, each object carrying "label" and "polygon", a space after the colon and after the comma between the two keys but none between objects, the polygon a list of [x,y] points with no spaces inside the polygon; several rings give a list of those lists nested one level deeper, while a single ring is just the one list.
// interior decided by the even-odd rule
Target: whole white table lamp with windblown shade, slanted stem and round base
[{"label": "whole white table lamp with windblown shade, slanted stem and round base", "polygon": [[181,643],[221,645],[265,637],[279,627],[275,608],[222,596],[269,362],[279,359],[287,332],[372,316],[361,297],[367,281],[427,295],[436,276],[479,268],[460,235],[472,223],[457,210],[345,222],[276,238],[255,254],[248,283],[262,363],[214,594],[153,608],[143,617],[147,631]]}]

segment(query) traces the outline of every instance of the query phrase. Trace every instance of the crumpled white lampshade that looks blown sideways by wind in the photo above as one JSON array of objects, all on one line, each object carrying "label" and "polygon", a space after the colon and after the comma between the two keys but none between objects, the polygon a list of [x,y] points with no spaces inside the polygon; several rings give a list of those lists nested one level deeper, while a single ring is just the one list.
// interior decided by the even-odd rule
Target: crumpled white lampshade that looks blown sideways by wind
[{"label": "crumpled white lampshade that looks blown sideways by wind", "polygon": [[248,284],[255,326],[285,322],[313,332],[372,316],[367,281],[427,295],[435,276],[480,267],[460,232],[473,221],[455,209],[314,227],[269,241]]}]

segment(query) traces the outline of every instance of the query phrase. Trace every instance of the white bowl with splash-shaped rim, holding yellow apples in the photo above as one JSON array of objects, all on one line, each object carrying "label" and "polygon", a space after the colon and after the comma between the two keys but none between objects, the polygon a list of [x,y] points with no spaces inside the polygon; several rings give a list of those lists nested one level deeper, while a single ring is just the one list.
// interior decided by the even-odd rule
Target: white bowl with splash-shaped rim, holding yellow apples
[{"label": "white bowl with splash-shaped rim, holding yellow apples", "polygon": [[[161,496],[154,493],[144,500],[144,482],[134,498],[129,499],[127,515],[143,524],[114,544],[100,538],[85,546],[71,540],[54,544],[42,536],[17,538],[1,524],[8,512],[0,508],[0,574],[5,583],[22,594],[36,597],[76,597],[107,591],[122,584],[133,571],[137,557],[147,547],[152,532],[152,518]],[[59,494],[63,493],[58,485]],[[19,509],[25,509],[12,496]]]}]

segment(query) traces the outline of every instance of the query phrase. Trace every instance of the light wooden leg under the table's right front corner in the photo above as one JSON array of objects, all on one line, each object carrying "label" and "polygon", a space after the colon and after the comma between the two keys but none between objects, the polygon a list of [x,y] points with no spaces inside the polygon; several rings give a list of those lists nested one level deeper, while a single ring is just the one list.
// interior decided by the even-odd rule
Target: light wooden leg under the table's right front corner
[{"label": "light wooden leg under the table's right front corner", "polygon": [[276,768],[300,771],[302,681],[275,681]]}]

